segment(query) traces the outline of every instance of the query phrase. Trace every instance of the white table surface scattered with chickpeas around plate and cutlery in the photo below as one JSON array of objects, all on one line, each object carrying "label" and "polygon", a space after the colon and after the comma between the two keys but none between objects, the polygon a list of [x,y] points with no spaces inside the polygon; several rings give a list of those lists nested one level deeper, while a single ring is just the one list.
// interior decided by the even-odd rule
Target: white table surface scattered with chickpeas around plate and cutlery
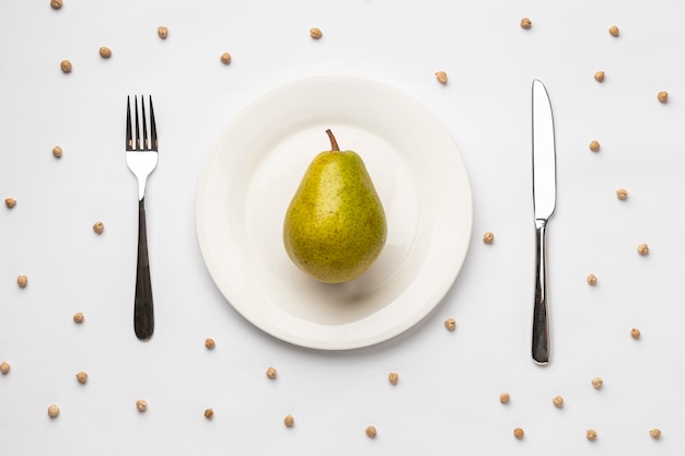
[{"label": "white table surface scattered with chickpeas around plate and cutlery", "polygon": [[[0,375],[2,454],[672,455],[685,447],[685,4],[0,7],[0,197],[18,201],[0,208],[0,362],[11,364]],[[519,25],[523,16],[532,28]],[[618,37],[607,32],[614,24]],[[321,40],[309,36],[314,26]],[[112,48],[111,59],[98,56],[101,46]],[[230,66],[219,61],[224,51]],[[59,69],[63,59],[70,74]],[[446,85],[436,81],[440,70]],[[593,79],[599,70],[602,83]],[[422,103],[453,137],[473,190],[472,243],[446,296],[407,332],[353,351],[303,349],[255,328],[214,287],[195,233],[199,171],[222,129],[270,89],[318,74],[370,78]],[[558,160],[545,367],[530,358],[534,78],[550,93]],[[657,101],[662,90],[666,104]],[[153,94],[163,144],[147,198],[156,305],[148,342],[131,324],[129,93]],[[618,187],[629,191],[626,201]],[[97,220],[101,236],[91,229]],[[486,231],[495,233],[491,245],[481,242]],[[637,254],[641,243],[648,256]],[[19,274],[28,277],[25,289]],[[449,317],[453,332],[443,327]],[[88,384],[76,381],[79,371]],[[388,372],[399,374],[397,385]],[[601,389],[591,385],[595,376]],[[140,398],[144,413],[136,410]],[[56,419],[50,404],[60,407]],[[374,440],[368,425],[378,429]],[[524,439],[513,437],[514,428]],[[654,428],[659,440],[649,435]],[[585,439],[588,429],[596,441]]]}]

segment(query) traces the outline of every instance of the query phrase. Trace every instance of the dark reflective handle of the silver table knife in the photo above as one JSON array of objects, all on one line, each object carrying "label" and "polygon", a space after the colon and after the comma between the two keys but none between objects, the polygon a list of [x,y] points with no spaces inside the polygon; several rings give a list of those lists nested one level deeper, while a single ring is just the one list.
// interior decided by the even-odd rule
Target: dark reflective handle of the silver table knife
[{"label": "dark reflective handle of the silver table knife", "polygon": [[549,363],[549,308],[547,305],[547,219],[535,220],[536,267],[535,304],[533,306],[533,361],[539,365]]}]

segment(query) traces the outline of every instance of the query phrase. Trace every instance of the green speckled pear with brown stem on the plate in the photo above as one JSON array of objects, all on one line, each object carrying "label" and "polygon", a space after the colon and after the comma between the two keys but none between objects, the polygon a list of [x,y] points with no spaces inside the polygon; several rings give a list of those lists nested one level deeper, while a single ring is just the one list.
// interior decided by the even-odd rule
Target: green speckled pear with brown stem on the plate
[{"label": "green speckled pear with brown stem on the plate", "polygon": [[361,157],[340,151],[330,130],[329,151],[307,167],[283,221],[290,259],[307,276],[340,283],[361,276],[387,237],[385,211]]}]

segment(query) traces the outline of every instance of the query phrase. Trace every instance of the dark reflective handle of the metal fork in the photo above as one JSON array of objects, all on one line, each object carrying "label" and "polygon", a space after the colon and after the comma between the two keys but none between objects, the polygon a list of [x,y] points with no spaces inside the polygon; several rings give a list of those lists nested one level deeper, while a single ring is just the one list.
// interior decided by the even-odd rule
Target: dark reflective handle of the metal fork
[{"label": "dark reflective handle of the metal fork", "polygon": [[136,270],[136,303],[133,306],[136,337],[148,340],[154,331],[150,260],[148,259],[148,229],[144,197],[138,201],[138,267]]}]

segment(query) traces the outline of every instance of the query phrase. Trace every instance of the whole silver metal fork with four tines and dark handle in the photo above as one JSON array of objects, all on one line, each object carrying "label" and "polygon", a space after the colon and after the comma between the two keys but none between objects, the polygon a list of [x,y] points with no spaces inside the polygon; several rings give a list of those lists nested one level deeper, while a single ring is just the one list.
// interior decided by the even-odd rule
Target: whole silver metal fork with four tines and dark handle
[{"label": "whole silver metal fork with four tines and dark handle", "polygon": [[[146,223],[146,183],[158,162],[156,126],[150,95],[150,138],[146,121],[146,103],[140,96],[142,128],[138,117],[138,96],[133,97],[136,129],[131,125],[130,96],[126,98],[126,164],[138,180],[138,266],[136,269],[136,301],[133,305],[133,329],[136,337],[148,340],[154,331],[154,311],[152,305],[152,284],[150,282],[150,261],[148,259],[148,234]],[[142,142],[140,140],[142,131]],[[133,142],[135,136],[135,142]]]}]

